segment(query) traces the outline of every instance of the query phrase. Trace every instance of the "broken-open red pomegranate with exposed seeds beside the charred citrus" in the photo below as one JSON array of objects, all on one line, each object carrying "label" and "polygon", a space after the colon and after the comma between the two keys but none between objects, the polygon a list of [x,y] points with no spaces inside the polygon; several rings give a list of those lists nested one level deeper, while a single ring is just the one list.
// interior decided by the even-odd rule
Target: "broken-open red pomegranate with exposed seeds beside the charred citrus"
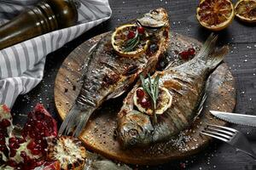
[{"label": "broken-open red pomegranate with exposed seeds beside the charred citrus", "polygon": [[[3,152],[5,164],[15,169],[32,170],[44,164],[46,159],[47,138],[57,136],[55,119],[44,109],[36,105],[28,114],[26,125],[22,129],[22,138],[15,137],[11,132],[12,116],[8,107],[0,106],[0,161]],[[6,147],[5,138],[9,138]],[[20,159],[21,157],[21,159]]]}]

